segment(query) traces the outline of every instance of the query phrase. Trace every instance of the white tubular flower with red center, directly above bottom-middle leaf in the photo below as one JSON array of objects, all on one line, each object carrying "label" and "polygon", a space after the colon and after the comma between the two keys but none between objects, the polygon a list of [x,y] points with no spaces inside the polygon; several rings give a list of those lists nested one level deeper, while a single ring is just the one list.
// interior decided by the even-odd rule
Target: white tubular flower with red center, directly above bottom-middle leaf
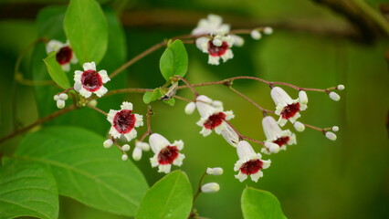
[{"label": "white tubular flower with red center, directly above bottom-middle leaf", "polygon": [[172,164],[176,166],[183,164],[185,156],[180,153],[184,148],[183,141],[170,143],[162,135],[153,133],[149,138],[149,143],[155,154],[150,162],[152,162],[152,167],[158,166],[158,172],[169,173]]}]

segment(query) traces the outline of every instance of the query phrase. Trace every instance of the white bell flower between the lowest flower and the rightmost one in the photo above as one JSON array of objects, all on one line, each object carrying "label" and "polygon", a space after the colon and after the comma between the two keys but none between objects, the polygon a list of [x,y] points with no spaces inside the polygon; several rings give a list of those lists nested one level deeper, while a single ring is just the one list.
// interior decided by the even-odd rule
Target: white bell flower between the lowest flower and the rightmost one
[{"label": "white bell flower between the lowest flower and the rightmost one", "polygon": [[[265,144],[265,148],[262,149],[263,153],[271,153],[268,146],[276,144],[279,150],[287,150],[287,145],[296,144],[296,136],[290,130],[281,130],[279,124],[274,118],[267,116],[262,120],[262,127],[265,132],[267,140],[265,142],[271,142],[273,144]],[[274,150],[278,152],[279,150]]]}]

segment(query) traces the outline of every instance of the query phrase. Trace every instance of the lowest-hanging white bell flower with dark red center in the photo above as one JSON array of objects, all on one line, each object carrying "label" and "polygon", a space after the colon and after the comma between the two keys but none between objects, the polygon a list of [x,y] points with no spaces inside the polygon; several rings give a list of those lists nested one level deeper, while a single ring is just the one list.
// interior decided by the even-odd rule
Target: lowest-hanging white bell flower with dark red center
[{"label": "lowest-hanging white bell flower with dark red center", "polygon": [[247,141],[237,143],[237,156],[239,160],[235,163],[234,171],[238,171],[235,178],[240,182],[250,176],[251,180],[257,183],[258,179],[263,176],[262,170],[267,169],[271,163],[270,160],[261,160],[262,155],[256,153]]}]

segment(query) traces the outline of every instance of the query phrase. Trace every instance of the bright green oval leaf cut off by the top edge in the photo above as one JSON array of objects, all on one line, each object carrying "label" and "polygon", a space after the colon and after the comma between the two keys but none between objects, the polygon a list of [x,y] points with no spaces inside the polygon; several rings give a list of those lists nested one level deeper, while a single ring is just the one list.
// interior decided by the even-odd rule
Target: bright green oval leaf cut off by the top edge
[{"label": "bright green oval leaf cut off by the top edge", "polygon": [[71,0],[64,29],[79,63],[100,62],[107,51],[108,25],[96,1]]}]

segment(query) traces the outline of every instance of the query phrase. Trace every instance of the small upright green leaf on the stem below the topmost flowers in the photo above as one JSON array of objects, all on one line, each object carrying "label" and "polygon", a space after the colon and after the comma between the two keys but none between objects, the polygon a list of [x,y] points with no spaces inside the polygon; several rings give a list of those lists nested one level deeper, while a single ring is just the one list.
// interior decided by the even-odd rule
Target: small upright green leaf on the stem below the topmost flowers
[{"label": "small upright green leaf on the stem below the topmost flowers", "polygon": [[160,59],[160,69],[166,81],[172,76],[186,75],[188,70],[188,55],[181,40],[177,39],[164,50]]}]

